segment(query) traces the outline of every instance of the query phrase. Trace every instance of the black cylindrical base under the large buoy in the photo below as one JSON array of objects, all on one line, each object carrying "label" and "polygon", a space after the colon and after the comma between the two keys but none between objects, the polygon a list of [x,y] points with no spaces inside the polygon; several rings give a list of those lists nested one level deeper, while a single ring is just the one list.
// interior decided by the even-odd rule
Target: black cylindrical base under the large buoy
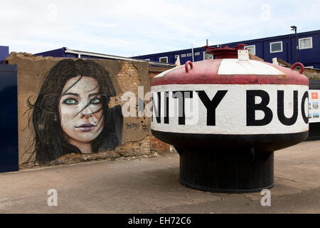
[{"label": "black cylindrical base under the large buoy", "polygon": [[208,192],[260,192],[274,185],[272,152],[182,149],[179,181],[186,187]]}]

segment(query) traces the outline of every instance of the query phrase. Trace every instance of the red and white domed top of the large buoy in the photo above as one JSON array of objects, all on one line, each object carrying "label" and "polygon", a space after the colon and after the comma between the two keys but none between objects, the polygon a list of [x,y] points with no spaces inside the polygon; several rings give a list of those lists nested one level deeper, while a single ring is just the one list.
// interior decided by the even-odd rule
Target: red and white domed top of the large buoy
[{"label": "red and white domed top of the large buoy", "polygon": [[[240,56],[239,44],[235,48],[228,46],[213,48],[205,46],[206,53],[215,56],[214,60],[198,61],[164,71],[151,81],[151,86],[169,84],[284,84],[309,86],[309,80],[302,71],[293,71],[272,63],[250,60]],[[238,56],[239,51],[239,56]],[[301,63],[296,63],[303,66]],[[294,65],[295,66],[295,65]],[[303,67],[302,67],[303,68]]]}]

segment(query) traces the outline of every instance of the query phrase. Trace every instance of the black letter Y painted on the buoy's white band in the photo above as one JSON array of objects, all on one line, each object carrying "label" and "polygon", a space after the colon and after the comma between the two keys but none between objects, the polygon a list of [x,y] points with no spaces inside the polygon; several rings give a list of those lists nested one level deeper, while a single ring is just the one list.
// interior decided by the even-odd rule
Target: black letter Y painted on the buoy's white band
[{"label": "black letter Y painted on the buoy's white band", "polygon": [[228,90],[218,90],[217,93],[215,93],[215,96],[213,97],[212,100],[208,98],[208,95],[204,90],[198,90],[196,92],[198,93],[198,96],[201,99],[203,105],[205,105],[207,109],[207,125],[214,126],[215,125],[215,108],[218,107],[219,103],[225,96],[225,93],[228,92]]}]

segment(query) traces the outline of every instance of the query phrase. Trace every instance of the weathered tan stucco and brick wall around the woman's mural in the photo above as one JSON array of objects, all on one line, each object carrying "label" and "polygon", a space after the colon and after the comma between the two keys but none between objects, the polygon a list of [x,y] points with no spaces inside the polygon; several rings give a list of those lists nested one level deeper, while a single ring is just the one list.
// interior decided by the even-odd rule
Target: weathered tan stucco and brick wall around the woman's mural
[{"label": "weathered tan stucco and brick wall around the woman's mural", "polygon": [[[6,63],[16,64],[18,68],[18,148],[19,164],[38,165],[35,157],[30,152],[34,149],[31,146],[33,133],[28,127],[29,107],[28,98],[31,103],[36,101],[47,73],[63,58],[26,56],[22,53],[11,53],[6,58]],[[76,61],[76,59],[73,59]],[[149,66],[148,63],[136,63],[131,61],[97,60],[92,59],[100,66],[103,66],[109,73],[116,96],[110,98],[109,107],[123,105],[122,95],[131,91],[138,97],[138,86],[144,87],[144,93],[150,90]],[[146,104],[147,101],[144,101]],[[98,153],[80,154],[71,153],[49,162],[48,165],[63,164],[81,160],[105,159],[107,157],[126,157],[134,155],[148,155],[150,153],[150,118],[128,117],[123,118],[122,142],[121,145],[109,149],[100,150]]]}]

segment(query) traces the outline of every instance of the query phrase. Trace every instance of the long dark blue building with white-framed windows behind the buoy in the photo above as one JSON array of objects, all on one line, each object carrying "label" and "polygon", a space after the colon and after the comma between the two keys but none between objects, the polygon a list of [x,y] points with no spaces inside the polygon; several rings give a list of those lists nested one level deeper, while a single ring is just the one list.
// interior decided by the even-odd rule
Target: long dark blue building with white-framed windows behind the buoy
[{"label": "long dark blue building with white-framed windows behind the buoy", "polygon": [[[248,41],[236,41],[233,43],[217,43],[210,47],[229,46],[234,48],[239,43],[245,43],[245,48],[250,53],[272,63],[272,58],[281,58],[287,63],[300,62],[305,67],[320,68],[320,30],[297,33],[297,60],[296,60],[296,35],[295,33],[257,38]],[[186,61],[203,61],[213,58],[206,54],[203,47],[188,48],[184,50],[169,51],[163,53],[151,53],[144,56],[134,56],[132,58],[144,59],[146,61],[158,61],[162,63],[175,63],[180,58],[180,63]]]}]

